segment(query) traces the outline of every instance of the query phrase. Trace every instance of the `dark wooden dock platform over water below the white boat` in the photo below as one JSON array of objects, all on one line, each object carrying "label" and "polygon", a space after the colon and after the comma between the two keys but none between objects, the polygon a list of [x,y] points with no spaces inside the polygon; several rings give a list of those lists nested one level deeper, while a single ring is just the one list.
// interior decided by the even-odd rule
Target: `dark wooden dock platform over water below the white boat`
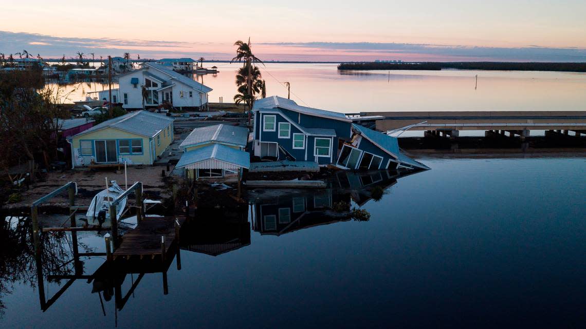
[{"label": "dark wooden dock platform over water below the white boat", "polygon": [[145,217],[122,237],[120,246],[114,250],[113,259],[132,256],[141,259],[161,256],[165,259],[172,245],[178,242],[179,229],[184,222],[185,217]]}]

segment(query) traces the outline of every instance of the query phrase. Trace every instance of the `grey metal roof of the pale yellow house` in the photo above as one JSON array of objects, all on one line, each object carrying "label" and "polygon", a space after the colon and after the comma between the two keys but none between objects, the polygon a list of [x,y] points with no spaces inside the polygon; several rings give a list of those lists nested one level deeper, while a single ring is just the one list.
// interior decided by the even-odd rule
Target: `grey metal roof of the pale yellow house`
[{"label": "grey metal roof of the pale yellow house", "polygon": [[169,116],[154,114],[148,111],[134,111],[118,116],[101,124],[95,125],[86,131],[75,136],[85,135],[104,128],[117,128],[122,131],[135,133],[146,137],[154,137],[157,133],[166,128],[174,119]]}]

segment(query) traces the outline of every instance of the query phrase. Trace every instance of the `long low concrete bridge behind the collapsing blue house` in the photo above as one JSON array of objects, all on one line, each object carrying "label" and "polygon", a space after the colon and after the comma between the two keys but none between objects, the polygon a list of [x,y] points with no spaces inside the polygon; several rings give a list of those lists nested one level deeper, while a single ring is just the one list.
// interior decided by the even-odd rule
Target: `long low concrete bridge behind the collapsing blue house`
[{"label": "long low concrete bridge behind the collapsing blue house", "polygon": [[[459,131],[486,131],[529,136],[532,130],[546,135],[586,135],[586,111],[451,111],[451,112],[362,112],[353,120],[374,124],[378,131],[393,131],[409,125],[425,135],[457,137]],[[425,123],[422,123],[425,122]]]}]

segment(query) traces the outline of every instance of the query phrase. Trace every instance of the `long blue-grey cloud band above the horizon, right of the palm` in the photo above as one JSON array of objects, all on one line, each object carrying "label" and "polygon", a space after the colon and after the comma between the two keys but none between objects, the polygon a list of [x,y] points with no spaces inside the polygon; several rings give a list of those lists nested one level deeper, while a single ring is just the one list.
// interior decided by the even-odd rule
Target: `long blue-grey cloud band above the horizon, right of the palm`
[{"label": "long blue-grey cloud band above the horizon, right of the palm", "polygon": [[302,48],[308,50],[342,51],[346,53],[380,54],[381,56],[385,54],[393,54],[394,56],[411,56],[413,54],[418,54],[420,57],[424,57],[424,55],[430,57],[441,56],[446,60],[586,61],[586,49],[576,47],[482,47],[373,42],[281,42],[262,44],[266,46],[292,47],[295,49]]}]

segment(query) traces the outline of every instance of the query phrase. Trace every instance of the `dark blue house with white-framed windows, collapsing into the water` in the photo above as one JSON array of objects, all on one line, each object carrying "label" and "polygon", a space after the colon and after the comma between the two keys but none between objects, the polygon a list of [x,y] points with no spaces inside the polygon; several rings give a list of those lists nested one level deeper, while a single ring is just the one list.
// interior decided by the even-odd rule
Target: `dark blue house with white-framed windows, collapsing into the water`
[{"label": "dark blue house with white-framed windows, collapsing into the water", "polygon": [[253,153],[342,169],[429,169],[401,154],[397,138],[352,124],[340,112],[302,107],[278,96],[254,102]]}]

